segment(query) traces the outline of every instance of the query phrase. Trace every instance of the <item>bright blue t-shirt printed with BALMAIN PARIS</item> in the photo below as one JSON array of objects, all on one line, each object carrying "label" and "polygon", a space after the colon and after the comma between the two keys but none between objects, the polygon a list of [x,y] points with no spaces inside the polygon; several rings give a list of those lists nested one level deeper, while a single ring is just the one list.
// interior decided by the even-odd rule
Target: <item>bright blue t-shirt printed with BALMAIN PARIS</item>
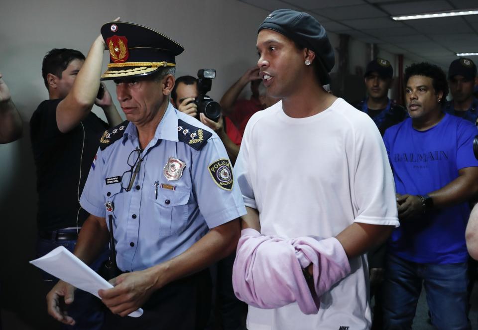
[{"label": "bright blue t-shirt printed with BALMAIN PARIS", "polygon": [[[435,126],[418,131],[407,118],[383,136],[396,192],[425,195],[458,178],[458,171],[478,167],[473,154],[476,127],[445,113]],[[389,239],[388,252],[418,263],[448,264],[468,259],[465,228],[468,203],[433,209],[417,219],[400,221]]]}]

